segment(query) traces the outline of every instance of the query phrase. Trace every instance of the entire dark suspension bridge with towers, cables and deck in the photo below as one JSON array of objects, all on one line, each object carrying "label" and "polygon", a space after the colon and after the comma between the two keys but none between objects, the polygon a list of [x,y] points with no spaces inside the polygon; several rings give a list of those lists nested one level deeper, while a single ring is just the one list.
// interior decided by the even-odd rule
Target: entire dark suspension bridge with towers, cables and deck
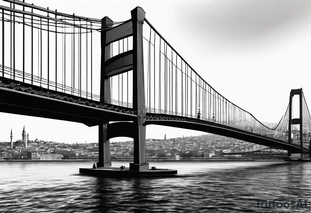
[{"label": "entire dark suspension bridge with towers, cables and deck", "polygon": [[[201,78],[141,7],[120,22],[17,0],[3,0],[0,13],[0,111],[98,125],[98,167],[111,166],[109,139],[125,136],[134,139],[130,169],[147,170],[150,124],[224,135],[309,158],[311,118],[302,88],[289,91],[279,122],[258,121]],[[296,119],[294,95],[300,97]]]}]

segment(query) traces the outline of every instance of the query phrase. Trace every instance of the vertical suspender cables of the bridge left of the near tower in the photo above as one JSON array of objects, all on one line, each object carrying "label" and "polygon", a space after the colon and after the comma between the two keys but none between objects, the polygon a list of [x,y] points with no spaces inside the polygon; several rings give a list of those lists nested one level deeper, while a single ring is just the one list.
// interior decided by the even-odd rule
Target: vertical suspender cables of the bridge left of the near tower
[{"label": "vertical suspender cables of the bridge left of the near tower", "polygon": [[0,76],[100,99],[100,31],[121,22],[103,25],[17,0],[1,1],[0,18]]}]

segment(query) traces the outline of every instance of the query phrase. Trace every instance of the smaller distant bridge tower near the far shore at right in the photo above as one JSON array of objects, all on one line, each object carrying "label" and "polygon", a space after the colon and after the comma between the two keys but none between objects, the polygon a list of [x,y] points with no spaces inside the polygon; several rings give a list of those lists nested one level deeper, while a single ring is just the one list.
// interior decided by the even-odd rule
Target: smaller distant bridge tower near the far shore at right
[{"label": "smaller distant bridge tower near the far shore at right", "polygon": [[[292,106],[293,106],[293,97],[294,95],[299,95],[299,118],[292,119]],[[303,93],[302,93],[302,88],[300,89],[292,89],[290,91],[290,104],[289,104],[289,121],[288,121],[288,143],[292,143],[292,138],[291,138],[291,130],[292,130],[292,124],[299,124],[300,125],[300,159],[304,159],[304,138],[303,138]],[[288,155],[290,156],[291,153],[288,152]]]}]

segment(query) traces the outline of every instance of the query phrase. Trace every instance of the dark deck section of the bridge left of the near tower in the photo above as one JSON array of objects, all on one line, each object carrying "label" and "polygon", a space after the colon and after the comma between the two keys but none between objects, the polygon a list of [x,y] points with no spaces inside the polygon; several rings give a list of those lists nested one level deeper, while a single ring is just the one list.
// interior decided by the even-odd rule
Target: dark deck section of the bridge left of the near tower
[{"label": "dark deck section of the bridge left of the near tower", "polygon": [[[100,121],[133,121],[133,109],[101,104],[67,93],[0,77],[0,112],[99,125]],[[3,121],[2,121],[3,122]]]}]

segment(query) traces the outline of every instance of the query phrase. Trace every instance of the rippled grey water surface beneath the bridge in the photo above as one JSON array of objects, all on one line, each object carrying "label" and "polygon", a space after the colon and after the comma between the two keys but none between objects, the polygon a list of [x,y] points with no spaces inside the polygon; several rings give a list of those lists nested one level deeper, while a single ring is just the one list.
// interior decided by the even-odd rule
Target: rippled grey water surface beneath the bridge
[{"label": "rippled grey water surface beneath the bridge", "polygon": [[[0,212],[310,212],[311,163],[282,161],[149,162],[169,178],[79,174],[92,161],[0,161]],[[112,162],[113,166],[129,162]],[[256,200],[307,208],[258,208]]]}]

